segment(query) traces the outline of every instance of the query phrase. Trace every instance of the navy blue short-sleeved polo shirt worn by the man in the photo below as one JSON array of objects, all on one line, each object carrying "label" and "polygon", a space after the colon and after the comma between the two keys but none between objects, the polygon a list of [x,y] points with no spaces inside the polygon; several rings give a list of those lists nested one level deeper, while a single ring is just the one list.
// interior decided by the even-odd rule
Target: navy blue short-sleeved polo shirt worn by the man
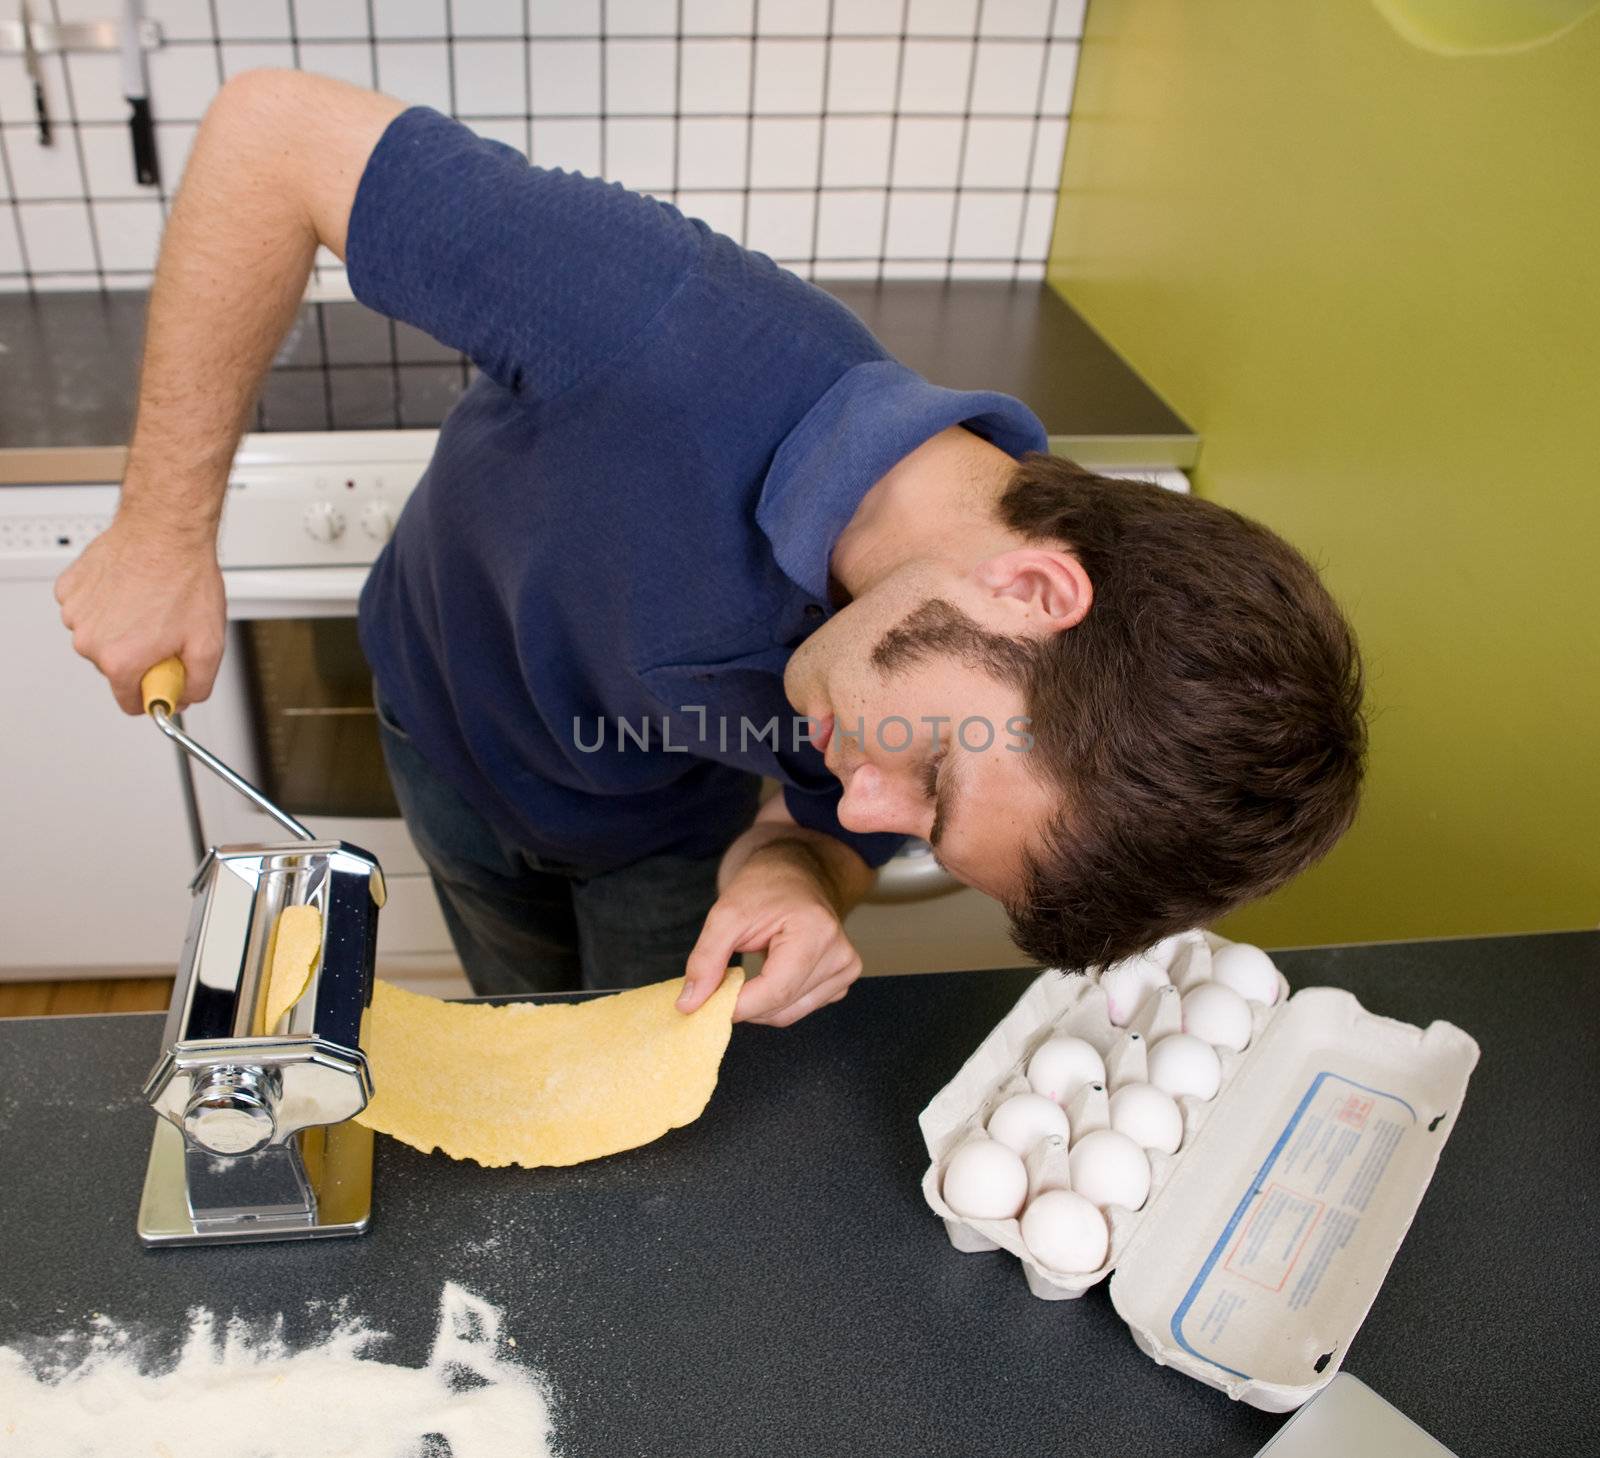
[{"label": "navy blue short-sleeved polo shirt worn by the man", "polygon": [[928,384],[704,222],[422,107],[366,165],[347,262],[362,302],[483,371],[360,605],[373,674],[434,768],[570,864],[715,855],[762,775],[802,826],[888,859],[899,837],[840,827],[784,664],[832,611],[829,554],[896,461],[954,424],[1045,450],[1035,416]]}]

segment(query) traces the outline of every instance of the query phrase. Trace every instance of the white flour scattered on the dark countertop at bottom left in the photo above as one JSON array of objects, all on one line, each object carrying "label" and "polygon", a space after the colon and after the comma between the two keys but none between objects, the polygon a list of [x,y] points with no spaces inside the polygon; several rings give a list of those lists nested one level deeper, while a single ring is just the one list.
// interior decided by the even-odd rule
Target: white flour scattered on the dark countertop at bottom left
[{"label": "white flour scattered on the dark countertop at bottom left", "polygon": [[[0,1455],[11,1458],[554,1458],[538,1376],[501,1356],[501,1312],[448,1282],[426,1367],[379,1362],[386,1340],[339,1319],[290,1351],[203,1309],[170,1370],[106,1317],[90,1333],[0,1348]],[[507,1346],[515,1341],[504,1338]]]}]

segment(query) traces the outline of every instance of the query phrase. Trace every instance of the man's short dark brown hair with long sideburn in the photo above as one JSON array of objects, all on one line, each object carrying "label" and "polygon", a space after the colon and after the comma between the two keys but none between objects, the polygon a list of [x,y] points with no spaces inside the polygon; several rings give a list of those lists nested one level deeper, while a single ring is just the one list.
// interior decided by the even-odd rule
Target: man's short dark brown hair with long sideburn
[{"label": "man's short dark brown hair with long sideburn", "polygon": [[1312,565],[1238,512],[1059,456],[1024,456],[998,514],[1072,549],[1083,621],[1008,639],[933,600],[872,661],[955,653],[1024,691],[1030,768],[1062,805],[1008,906],[1016,944],[1106,965],[1325,855],[1355,818],[1366,727],[1355,637]]}]

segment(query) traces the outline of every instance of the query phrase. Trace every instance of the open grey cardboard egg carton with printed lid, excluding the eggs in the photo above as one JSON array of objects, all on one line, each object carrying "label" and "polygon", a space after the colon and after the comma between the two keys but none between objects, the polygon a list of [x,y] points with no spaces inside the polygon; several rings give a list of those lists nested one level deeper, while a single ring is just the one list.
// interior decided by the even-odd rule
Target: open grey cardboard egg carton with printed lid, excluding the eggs
[{"label": "open grey cardboard egg carton with printed lid, excluding the eggs", "polygon": [[[970,1220],[941,1196],[950,1156],[984,1135],[1000,1103],[1027,1091],[1040,1043],[1082,1037],[1106,1059],[1109,1090],[1141,1080],[1146,1047],[1179,1029],[1181,994],[1206,979],[1227,944],[1197,930],[1146,952],[1171,986],[1150,991],[1126,1027],[1110,1019],[1101,973],[1042,973],[922,1111],[922,1189],[957,1250],[1010,1252],[1045,1300],[1082,1296],[1110,1276],[1112,1306],[1146,1356],[1253,1407],[1290,1412],[1339,1370],[1416,1215],[1478,1059],[1459,1027],[1379,1018],[1336,987],[1290,997],[1278,973],[1277,1002],[1250,1005],[1248,1047],[1218,1048],[1216,1096],[1178,1100],[1182,1141],[1176,1154],[1149,1151],[1144,1205],[1106,1212],[1110,1242],[1098,1271],[1051,1271],[1030,1255],[1018,1220]],[[1069,1103],[1069,1119],[1086,1120],[1072,1125],[1072,1140],[1102,1127],[1104,1096]],[[1029,1199],[1069,1184],[1059,1138],[1024,1164]]]}]

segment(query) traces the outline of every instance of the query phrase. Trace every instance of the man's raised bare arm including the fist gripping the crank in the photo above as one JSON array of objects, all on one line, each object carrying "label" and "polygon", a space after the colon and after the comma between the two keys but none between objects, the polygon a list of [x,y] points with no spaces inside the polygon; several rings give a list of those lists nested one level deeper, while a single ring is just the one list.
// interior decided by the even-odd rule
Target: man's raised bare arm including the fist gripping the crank
[{"label": "man's raised bare arm including the fist gripping the crank", "polygon": [[184,663],[184,704],[211,691],[227,469],[317,245],[344,256],[357,184],[398,110],[342,82],[261,70],[206,112],[155,266],[122,504],[56,579],[72,647],[126,714],[163,658]]}]

